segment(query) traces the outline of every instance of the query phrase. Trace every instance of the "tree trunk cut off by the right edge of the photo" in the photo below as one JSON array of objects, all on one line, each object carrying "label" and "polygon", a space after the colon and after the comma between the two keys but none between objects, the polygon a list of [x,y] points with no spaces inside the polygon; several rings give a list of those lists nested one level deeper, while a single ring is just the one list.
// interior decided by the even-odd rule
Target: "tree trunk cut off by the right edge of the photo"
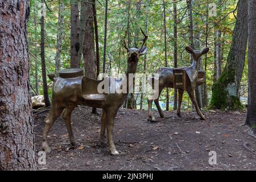
[{"label": "tree trunk cut off by the right edge of the photo", "polygon": [[248,107],[246,124],[256,134],[256,0],[249,0],[248,2]]}]

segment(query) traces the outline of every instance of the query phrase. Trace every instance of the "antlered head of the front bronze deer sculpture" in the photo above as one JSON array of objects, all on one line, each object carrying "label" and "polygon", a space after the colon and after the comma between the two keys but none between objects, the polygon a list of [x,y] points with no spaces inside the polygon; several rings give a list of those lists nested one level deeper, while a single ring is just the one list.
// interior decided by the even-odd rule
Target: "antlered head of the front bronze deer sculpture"
[{"label": "antlered head of the front bronze deer sculpture", "polygon": [[[141,31],[142,31],[142,29],[141,29]],[[129,71],[129,68],[131,68],[131,67],[137,67],[139,56],[142,56],[147,52],[147,47],[144,46],[144,44],[146,43],[148,36],[146,34],[144,34],[143,31],[142,31],[142,34],[144,35],[144,38],[141,39],[143,41],[143,43],[142,43],[141,48],[139,48],[139,49],[127,47],[125,40],[123,40],[123,44],[124,44],[123,46],[127,50],[127,63],[128,63],[127,70],[128,71]]]}]

